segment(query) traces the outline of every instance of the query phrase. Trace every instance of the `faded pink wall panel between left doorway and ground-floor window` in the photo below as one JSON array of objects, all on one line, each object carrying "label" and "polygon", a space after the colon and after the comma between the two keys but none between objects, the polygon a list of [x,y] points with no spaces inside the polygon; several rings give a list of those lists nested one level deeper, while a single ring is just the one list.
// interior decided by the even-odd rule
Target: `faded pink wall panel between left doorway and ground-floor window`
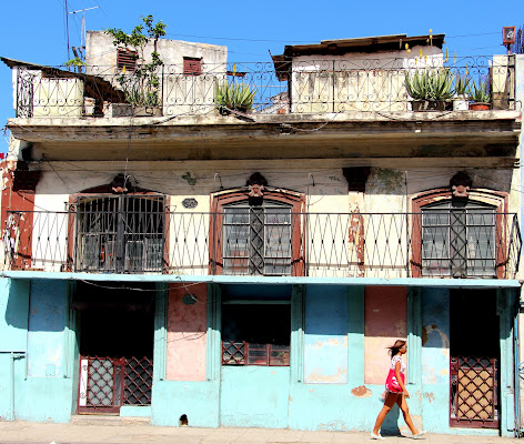
[{"label": "faded pink wall panel between left doorway and ground-floor window", "polygon": [[[185,304],[192,294],[196,301]],[[205,381],[208,285],[171,285],[168,302],[167,379]]]}]

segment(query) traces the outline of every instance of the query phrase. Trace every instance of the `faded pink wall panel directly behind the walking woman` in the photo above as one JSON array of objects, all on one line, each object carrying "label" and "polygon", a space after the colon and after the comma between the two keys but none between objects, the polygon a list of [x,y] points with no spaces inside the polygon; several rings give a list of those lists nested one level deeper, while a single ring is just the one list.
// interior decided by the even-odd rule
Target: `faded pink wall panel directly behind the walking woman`
[{"label": "faded pink wall panel directly behind the walking woman", "polygon": [[[364,382],[384,384],[389,346],[406,337],[407,293],[402,286],[367,286],[364,309]],[[404,360],[405,361],[405,360]]]}]

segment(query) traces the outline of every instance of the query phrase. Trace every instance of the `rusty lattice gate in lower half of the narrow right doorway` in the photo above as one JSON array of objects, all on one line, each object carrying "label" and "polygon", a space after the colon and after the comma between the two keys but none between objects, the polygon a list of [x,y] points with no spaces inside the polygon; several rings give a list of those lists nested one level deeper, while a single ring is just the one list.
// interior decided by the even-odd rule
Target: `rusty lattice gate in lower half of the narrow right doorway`
[{"label": "rusty lattice gate in lower half of the narrow right doorway", "polygon": [[463,427],[498,427],[496,360],[451,359],[450,424]]}]

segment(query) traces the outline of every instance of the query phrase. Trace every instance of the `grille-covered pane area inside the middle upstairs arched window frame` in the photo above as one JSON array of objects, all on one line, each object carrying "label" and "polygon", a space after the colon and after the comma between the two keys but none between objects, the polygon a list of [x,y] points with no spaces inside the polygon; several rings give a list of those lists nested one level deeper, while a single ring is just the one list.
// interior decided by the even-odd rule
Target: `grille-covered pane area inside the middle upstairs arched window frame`
[{"label": "grille-covered pane area inside the middle upstairs arched window frame", "polygon": [[290,275],[291,205],[230,205],[223,218],[223,273]]}]

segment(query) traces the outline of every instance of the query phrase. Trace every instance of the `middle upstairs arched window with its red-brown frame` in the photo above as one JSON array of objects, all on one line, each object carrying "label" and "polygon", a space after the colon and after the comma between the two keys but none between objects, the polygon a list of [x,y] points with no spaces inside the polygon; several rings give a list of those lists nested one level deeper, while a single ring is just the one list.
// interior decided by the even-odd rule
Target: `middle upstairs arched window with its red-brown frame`
[{"label": "middle upstairs arched window with its red-brown frame", "polygon": [[210,263],[212,274],[303,275],[304,198],[266,189],[253,199],[249,190],[213,198]]}]

